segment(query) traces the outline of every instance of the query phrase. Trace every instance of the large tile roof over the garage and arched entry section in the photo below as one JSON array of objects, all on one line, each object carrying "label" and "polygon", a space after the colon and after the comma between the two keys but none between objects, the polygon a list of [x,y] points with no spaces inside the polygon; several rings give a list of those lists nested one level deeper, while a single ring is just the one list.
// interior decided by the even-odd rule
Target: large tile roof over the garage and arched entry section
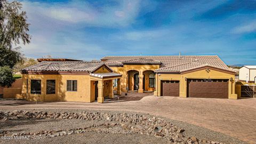
[{"label": "large tile roof over the garage and arched entry section", "polygon": [[[180,72],[201,66],[211,66],[228,70],[227,65],[217,55],[140,55],[140,56],[106,56],[105,60],[109,66],[122,66],[126,61],[147,59],[161,62],[160,69],[169,72]],[[108,63],[109,62],[109,63]],[[157,70],[156,70],[157,71]]]}]

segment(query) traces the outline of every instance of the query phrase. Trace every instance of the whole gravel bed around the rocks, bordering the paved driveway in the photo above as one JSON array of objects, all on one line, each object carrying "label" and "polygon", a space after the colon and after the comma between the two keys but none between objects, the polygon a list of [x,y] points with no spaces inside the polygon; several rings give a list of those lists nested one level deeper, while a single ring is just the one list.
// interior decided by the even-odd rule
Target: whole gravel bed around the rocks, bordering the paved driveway
[{"label": "whole gravel bed around the rocks, bordering the paved driveway", "polygon": [[[33,110],[28,110],[30,112],[33,112]],[[43,109],[37,109],[36,111],[45,111]],[[22,113],[19,114],[23,114],[26,111],[22,111]],[[30,113],[29,112],[29,113]],[[42,142],[47,142],[47,143],[64,143],[64,142],[70,142],[70,140],[77,142],[77,143],[173,143],[175,142],[175,140],[179,140],[179,138],[181,139],[190,139],[192,137],[196,137],[199,143],[203,143],[203,140],[211,140],[211,141],[218,141],[218,142],[223,142],[223,143],[245,143],[243,141],[240,141],[236,138],[233,137],[229,137],[228,135],[222,134],[222,133],[218,133],[215,131],[211,131],[209,129],[205,129],[203,127],[199,127],[199,126],[195,126],[195,125],[191,125],[188,123],[184,123],[184,122],[180,122],[180,121],[174,121],[172,119],[167,119],[167,118],[163,118],[163,117],[154,117],[148,114],[143,114],[143,113],[127,113],[127,112],[123,112],[123,111],[97,111],[97,110],[86,110],[87,117],[90,116],[90,114],[95,115],[92,116],[92,119],[79,119],[79,118],[69,118],[67,115],[67,118],[65,117],[66,115],[63,115],[63,118],[59,117],[54,117],[55,113],[70,113],[70,115],[72,114],[79,114],[79,113],[84,113],[85,110],[70,110],[70,109],[50,109],[50,110],[46,110],[47,113],[53,113],[52,118],[47,118],[45,114],[45,118],[37,118],[36,115],[34,118],[27,118],[27,119],[23,119],[23,117],[20,118],[16,118],[14,116],[10,116],[9,119],[3,121],[0,123],[0,127],[1,127],[1,132],[3,131],[8,131],[10,132],[10,134],[17,134],[17,133],[23,133],[24,135],[29,134],[29,133],[37,133],[36,137],[34,137],[33,139],[30,140],[3,140],[1,141],[2,143],[6,143],[6,142],[15,142],[15,143],[42,143]],[[12,113],[12,112],[11,112]],[[15,112],[14,112],[15,113]],[[28,113],[28,112],[27,112]],[[44,112],[45,113],[45,112]],[[42,113],[38,113],[41,114]],[[48,114],[48,115],[49,115]],[[13,115],[13,114],[12,114]],[[98,115],[103,115],[106,118],[98,118],[96,116]],[[114,118],[113,118],[114,115]],[[175,126],[175,131],[177,131],[179,128],[181,128],[182,131],[180,133],[180,135],[182,137],[179,136],[179,133],[174,132],[174,133],[170,133],[171,137],[165,137],[165,135],[161,136],[161,137],[156,137],[156,135],[151,134],[151,133],[147,133],[143,132],[140,133],[140,131],[136,130],[136,126],[133,127],[126,125],[127,122],[121,122],[123,120],[120,120],[118,118],[115,118],[115,116],[127,116],[127,119],[129,119],[129,117],[134,117],[134,115],[136,117],[141,117],[141,116],[145,116],[145,117],[149,117],[152,118],[154,117],[155,119],[162,119],[165,125],[167,124],[171,124],[171,127]],[[34,112],[33,112],[33,116],[34,116]],[[40,116],[40,115],[39,115]],[[19,117],[19,115],[18,115]],[[93,117],[95,119],[93,119]],[[2,117],[3,118],[3,117]],[[1,118],[0,118],[1,119]],[[92,121],[93,120],[93,121]],[[132,120],[132,119],[131,119]],[[130,121],[130,119],[129,119]],[[148,123],[148,120],[146,120]],[[111,122],[111,123],[109,123]],[[113,124],[113,122],[115,124]],[[131,121],[132,122],[132,121]],[[143,121],[142,121],[143,122]],[[156,121],[157,122],[157,121]],[[145,125],[147,125],[147,123]],[[135,125],[140,125],[140,123],[132,123]],[[151,123],[149,123],[150,125]],[[158,125],[161,123],[158,123]],[[84,128],[86,127],[86,128]],[[129,128],[128,128],[129,127]],[[153,126],[154,127],[154,126]],[[164,127],[163,127],[164,128]],[[82,129],[82,133],[76,133],[76,129]],[[150,127],[148,129],[151,129]],[[71,134],[66,134],[69,133],[70,131],[75,131],[74,133]],[[54,135],[54,131],[66,131],[65,134],[66,135],[62,135],[62,133],[60,132],[60,134],[58,135],[58,137],[44,137],[45,133],[40,133],[45,131],[47,134],[49,135]],[[151,130],[153,131],[153,130]],[[0,132],[0,133],[1,133]],[[149,131],[150,132],[150,131]],[[162,133],[164,133],[162,131]],[[46,136],[47,136],[46,134]],[[160,133],[161,134],[161,133]],[[41,137],[42,135],[42,137]],[[176,135],[176,136],[175,136]],[[177,136],[178,135],[178,136]],[[170,140],[171,138],[171,140]],[[173,140],[173,141],[172,141]],[[188,141],[191,141],[188,140]],[[178,141],[176,141],[178,142]],[[196,143],[197,141],[195,141],[194,143]],[[193,141],[191,141],[191,143],[193,143]]]}]

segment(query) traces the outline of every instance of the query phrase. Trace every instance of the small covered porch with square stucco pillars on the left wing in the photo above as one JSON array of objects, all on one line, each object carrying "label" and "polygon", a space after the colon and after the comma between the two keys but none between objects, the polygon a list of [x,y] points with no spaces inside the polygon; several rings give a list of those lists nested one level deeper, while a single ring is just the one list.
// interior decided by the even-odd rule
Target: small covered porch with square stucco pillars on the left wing
[{"label": "small covered porch with square stucco pillars on the left wing", "polygon": [[114,81],[117,79],[117,95],[121,95],[121,74],[91,73],[91,101],[103,103],[106,97],[114,98]]}]

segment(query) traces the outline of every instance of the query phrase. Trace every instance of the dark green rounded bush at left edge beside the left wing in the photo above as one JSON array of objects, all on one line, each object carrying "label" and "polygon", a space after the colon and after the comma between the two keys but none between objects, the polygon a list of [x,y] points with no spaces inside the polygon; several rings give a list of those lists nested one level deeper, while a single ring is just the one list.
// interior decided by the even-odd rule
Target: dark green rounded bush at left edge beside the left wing
[{"label": "dark green rounded bush at left edge beside the left wing", "polygon": [[14,81],[12,69],[8,66],[0,67],[0,86],[11,86]]}]

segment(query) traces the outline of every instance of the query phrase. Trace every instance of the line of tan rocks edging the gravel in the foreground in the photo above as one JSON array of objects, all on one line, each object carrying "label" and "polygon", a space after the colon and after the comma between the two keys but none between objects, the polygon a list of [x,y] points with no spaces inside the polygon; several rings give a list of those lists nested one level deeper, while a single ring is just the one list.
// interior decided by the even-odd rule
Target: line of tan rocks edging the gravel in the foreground
[{"label": "line of tan rocks edging the gravel in the foreground", "polygon": [[106,121],[105,124],[94,124],[88,127],[79,127],[77,129],[58,130],[58,131],[40,131],[36,133],[11,133],[9,131],[0,131],[0,136],[17,135],[29,136],[31,139],[42,137],[58,137],[61,135],[84,133],[84,132],[102,132],[102,133],[124,133],[124,134],[145,134],[161,137],[174,143],[211,143],[221,144],[210,140],[197,139],[196,137],[185,137],[183,129],[165,121],[163,118],[142,115],[106,112],[83,111],[79,113],[68,112],[47,112],[47,111],[0,111],[0,121],[12,121],[19,119],[81,119],[81,121]]}]

